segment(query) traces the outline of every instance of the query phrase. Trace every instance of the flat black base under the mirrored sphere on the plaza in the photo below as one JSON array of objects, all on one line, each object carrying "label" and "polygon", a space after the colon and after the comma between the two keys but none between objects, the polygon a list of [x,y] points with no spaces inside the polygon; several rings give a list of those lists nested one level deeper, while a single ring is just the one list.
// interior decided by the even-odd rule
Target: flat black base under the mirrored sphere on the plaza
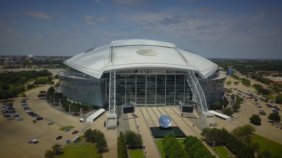
[{"label": "flat black base under the mirrored sphere on the plaza", "polygon": [[157,138],[164,138],[164,135],[173,133],[175,137],[177,138],[185,138],[186,135],[182,132],[182,130],[179,127],[150,127],[152,134],[155,139]]}]

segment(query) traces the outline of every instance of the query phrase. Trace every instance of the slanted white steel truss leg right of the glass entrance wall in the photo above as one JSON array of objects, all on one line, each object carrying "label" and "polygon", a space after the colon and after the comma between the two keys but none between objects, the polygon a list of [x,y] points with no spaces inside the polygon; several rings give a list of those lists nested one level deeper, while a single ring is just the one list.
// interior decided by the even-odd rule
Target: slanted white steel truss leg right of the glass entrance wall
[{"label": "slanted white steel truss leg right of the glass entrance wall", "polygon": [[187,82],[191,88],[193,98],[197,103],[197,107],[201,112],[208,112],[206,98],[204,92],[193,71],[188,71]]}]

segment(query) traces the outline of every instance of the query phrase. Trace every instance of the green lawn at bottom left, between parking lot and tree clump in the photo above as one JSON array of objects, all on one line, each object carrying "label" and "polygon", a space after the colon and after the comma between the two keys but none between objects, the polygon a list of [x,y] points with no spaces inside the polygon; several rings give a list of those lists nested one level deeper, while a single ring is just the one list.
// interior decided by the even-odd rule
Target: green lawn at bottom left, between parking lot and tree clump
[{"label": "green lawn at bottom left, between parking lot and tree clump", "polygon": [[[84,142],[80,147],[78,146],[66,146],[64,147],[61,152],[63,154],[60,155],[60,158],[64,157],[96,157],[97,154],[96,150],[96,143]],[[55,157],[59,157],[56,155]]]}]

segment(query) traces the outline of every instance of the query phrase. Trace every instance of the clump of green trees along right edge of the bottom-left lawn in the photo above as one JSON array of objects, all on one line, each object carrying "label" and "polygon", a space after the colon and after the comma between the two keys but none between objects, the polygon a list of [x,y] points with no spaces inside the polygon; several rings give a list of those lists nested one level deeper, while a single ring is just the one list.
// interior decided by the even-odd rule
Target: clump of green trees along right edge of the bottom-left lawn
[{"label": "clump of green trees along right edge of the bottom-left lawn", "polygon": [[84,137],[87,141],[96,143],[96,149],[99,153],[102,153],[108,147],[108,143],[105,139],[105,135],[100,130],[91,128],[85,130]]}]

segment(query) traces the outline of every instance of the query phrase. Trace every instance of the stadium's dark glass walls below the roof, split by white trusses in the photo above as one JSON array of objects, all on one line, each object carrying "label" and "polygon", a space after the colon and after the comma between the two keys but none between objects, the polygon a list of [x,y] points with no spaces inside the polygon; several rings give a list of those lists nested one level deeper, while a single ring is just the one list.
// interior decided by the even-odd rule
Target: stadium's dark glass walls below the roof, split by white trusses
[{"label": "stadium's dark glass walls below the roof, split by white trusses", "polygon": [[[93,79],[87,74],[77,76],[76,73],[81,72],[69,71],[58,74],[63,94],[70,100],[93,107],[107,105],[109,73],[105,73],[101,80]],[[117,71],[116,105],[129,104],[130,101],[140,107],[175,106],[179,105],[180,101],[191,103],[193,94],[186,79],[187,73],[183,71],[159,70],[156,73],[152,70]],[[220,99],[225,79],[202,80],[198,77],[207,104]]]}]

